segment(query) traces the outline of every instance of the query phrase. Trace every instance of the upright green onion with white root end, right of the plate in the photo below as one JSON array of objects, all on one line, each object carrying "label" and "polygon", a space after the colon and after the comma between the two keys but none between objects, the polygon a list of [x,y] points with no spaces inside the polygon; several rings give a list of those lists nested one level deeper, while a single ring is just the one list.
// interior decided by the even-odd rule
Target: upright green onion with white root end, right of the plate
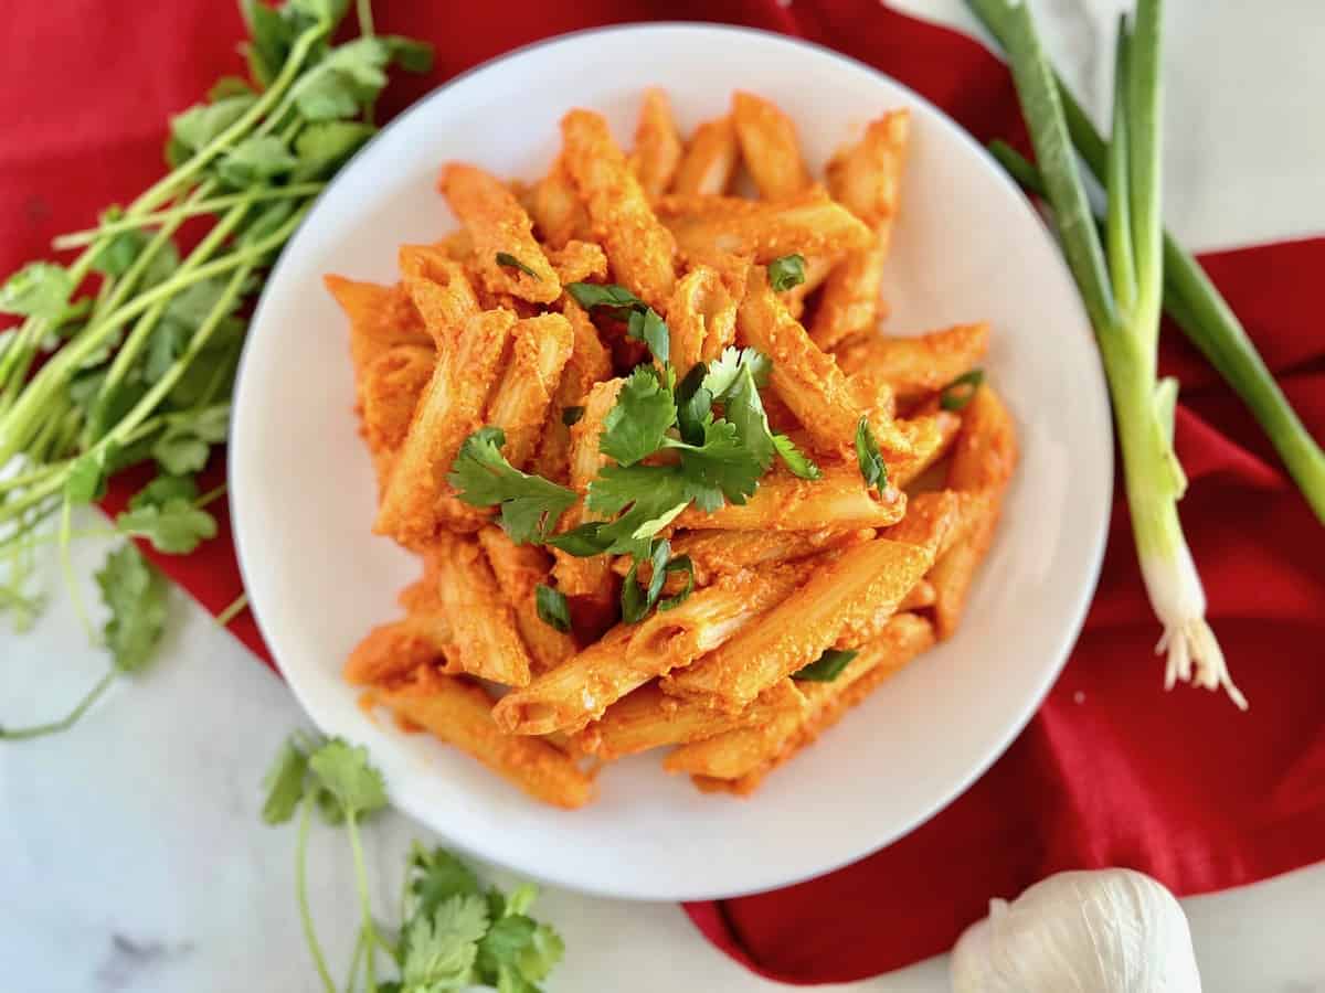
[{"label": "upright green onion with white root end, right of the plate", "polygon": [[1141,572],[1163,625],[1157,651],[1167,655],[1165,683],[1223,688],[1246,708],[1206,622],[1204,591],[1178,518],[1178,500],[1187,485],[1173,449],[1178,383],[1157,377],[1165,293],[1161,16],[1159,0],[1140,0],[1134,19],[1120,21],[1101,241],[1059,85],[1031,13],[1024,3],[1006,0],[994,13],[1035,146],[1039,177],[1104,360]]}]

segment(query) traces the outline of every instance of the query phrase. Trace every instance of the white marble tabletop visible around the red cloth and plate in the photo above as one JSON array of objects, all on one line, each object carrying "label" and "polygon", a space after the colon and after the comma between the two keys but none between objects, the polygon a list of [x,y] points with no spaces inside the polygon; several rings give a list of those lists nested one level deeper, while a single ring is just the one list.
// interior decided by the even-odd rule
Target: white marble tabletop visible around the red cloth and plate
[{"label": "white marble tabletop visible around the red cloth and plate", "polygon": [[[958,0],[905,0],[962,26]],[[1057,62],[1106,102],[1117,0],[1037,0]],[[1171,0],[1166,197],[1170,225],[1207,248],[1325,230],[1325,8],[1320,0]],[[102,549],[80,551],[89,576]],[[48,577],[58,591],[54,575]],[[89,592],[89,597],[91,593]],[[0,632],[0,718],[62,712],[101,675],[68,604],[25,637]],[[293,900],[293,830],[258,821],[257,781],[302,720],[278,679],[176,600],[160,665],[117,687],[73,732],[0,747],[0,986],[64,990],[313,990]],[[395,879],[412,837],[375,826]],[[314,906],[333,961],[352,932],[339,835],[311,851]],[[1325,990],[1325,866],[1185,900],[1208,993]],[[570,892],[542,914],[566,936],[556,990],[762,990],[673,904]],[[829,990],[935,993],[943,959]]]}]

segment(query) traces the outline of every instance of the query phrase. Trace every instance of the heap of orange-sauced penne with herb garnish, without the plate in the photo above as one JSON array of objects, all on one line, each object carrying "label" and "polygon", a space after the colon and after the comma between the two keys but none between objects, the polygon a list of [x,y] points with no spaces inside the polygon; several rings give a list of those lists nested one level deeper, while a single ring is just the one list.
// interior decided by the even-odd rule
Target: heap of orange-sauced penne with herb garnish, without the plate
[{"label": "heap of orange-sauced penne with herb garnish, without the plate", "polygon": [[531,187],[448,163],[462,226],[396,285],[327,277],[423,568],[346,665],[367,703],[556,806],[665,747],[746,794],[955,632],[1016,441],[986,324],[876,328],[909,119],[825,188],[751,93],[685,142],[647,90],[629,155],[571,110]]}]

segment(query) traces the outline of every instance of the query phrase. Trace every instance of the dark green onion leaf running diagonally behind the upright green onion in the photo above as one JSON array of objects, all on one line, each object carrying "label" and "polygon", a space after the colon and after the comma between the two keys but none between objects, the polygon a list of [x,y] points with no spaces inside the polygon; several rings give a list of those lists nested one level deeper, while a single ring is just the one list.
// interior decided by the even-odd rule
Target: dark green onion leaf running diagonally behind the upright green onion
[{"label": "dark green onion leaf running diagonally behind the upright green onion", "polygon": [[[1003,48],[1011,24],[1007,0],[966,0]],[[1110,150],[1072,93],[1055,77],[1068,132],[1096,179],[1105,181]],[[999,162],[1027,189],[1043,195],[1037,172],[1007,146],[994,150]],[[1026,167],[1026,168],[1023,168]],[[1030,169],[1030,172],[1027,171]],[[1187,339],[1215,367],[1260,422],[1306,503],[1325,523],[1325,451],[1293,412],[1275,377],[1265,368],[1242,322],[1190,252],[1163,233],[1163,306]]]}]

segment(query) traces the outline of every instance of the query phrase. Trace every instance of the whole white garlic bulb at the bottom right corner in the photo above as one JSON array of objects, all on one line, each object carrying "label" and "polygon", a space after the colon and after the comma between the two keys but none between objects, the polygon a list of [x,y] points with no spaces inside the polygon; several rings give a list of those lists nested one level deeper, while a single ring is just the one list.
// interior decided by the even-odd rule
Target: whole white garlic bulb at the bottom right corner
[{"label": "whole white garlic bulb at the bottom right corner", "polygon": [[1130,869],[1059,873],[990,900],[951,970],[953,993],[1200,993],[1182,907]]}]

